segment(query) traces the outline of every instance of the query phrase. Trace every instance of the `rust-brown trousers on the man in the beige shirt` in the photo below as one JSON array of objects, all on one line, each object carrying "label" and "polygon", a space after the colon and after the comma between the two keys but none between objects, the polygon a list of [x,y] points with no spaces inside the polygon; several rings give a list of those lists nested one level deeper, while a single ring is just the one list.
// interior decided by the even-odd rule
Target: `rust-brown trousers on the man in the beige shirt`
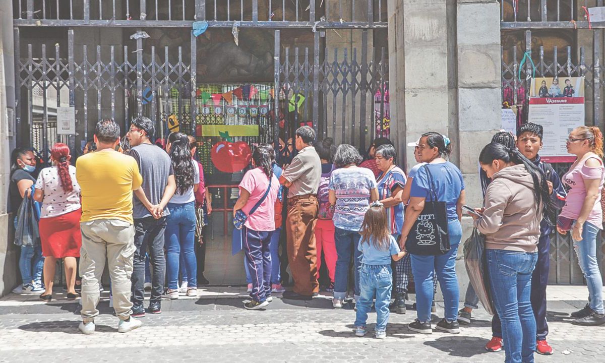
[{"label": "rust-brown trousers on the man in the beige shirt", "polygon": [[315,195],[288,198],[286,217],[288,261],[294,278],[293,291],[300,295],[310,296],[319,292],[314,232],[318,209]]}]

